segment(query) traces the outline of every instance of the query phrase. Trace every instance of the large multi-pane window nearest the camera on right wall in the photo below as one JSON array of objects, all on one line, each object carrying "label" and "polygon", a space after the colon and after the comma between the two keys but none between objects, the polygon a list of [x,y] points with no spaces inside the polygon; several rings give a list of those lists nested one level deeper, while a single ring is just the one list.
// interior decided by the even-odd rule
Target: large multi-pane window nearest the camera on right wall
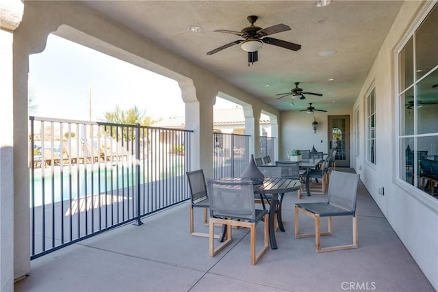
[{"label": "large multi-pane window nearest the camera on right wall", "polygon": [[398,52],[399,175],[431,195],[425,165],[438,163],[437,40],[435,4]]}]

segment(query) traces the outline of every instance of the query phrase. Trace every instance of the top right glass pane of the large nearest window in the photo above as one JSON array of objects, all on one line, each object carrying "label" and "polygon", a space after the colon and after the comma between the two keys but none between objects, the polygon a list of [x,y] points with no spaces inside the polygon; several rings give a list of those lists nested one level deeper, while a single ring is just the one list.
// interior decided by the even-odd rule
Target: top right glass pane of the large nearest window
[{"label": "top right glass pane of the large nearest window", "polygon": [[438,8],[435,5],[415,33],[417,80],[438,65]]}]

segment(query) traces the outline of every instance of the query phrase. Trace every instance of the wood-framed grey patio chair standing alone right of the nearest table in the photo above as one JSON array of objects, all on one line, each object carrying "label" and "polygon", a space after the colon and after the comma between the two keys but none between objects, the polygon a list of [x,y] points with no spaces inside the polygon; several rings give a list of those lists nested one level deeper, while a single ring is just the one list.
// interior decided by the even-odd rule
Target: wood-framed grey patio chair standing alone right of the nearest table
[{"label": "wood-framed grey patio chair standing alone right of the nearest table", "polygon": [[[328,202],[311,202],[295,204],[295,237],[315,237],[316,252],[331,252],[335,250],[348,250],[358,248],[357,241],[357,216],[356,216],[356,196],[357,185],[359,184],[359,174],[349,174],[346,172],[333,171],[331,173],[331,184],[329,185]],[[315,233],[299,233],[298,214],[303,213],[315,219]],[[321,248],[320,237],[322,235],[332,235],[333,216],[352,216],[352,244],[337,245]],[[328,217],[328,230],[321,232],[320,218]]]}]

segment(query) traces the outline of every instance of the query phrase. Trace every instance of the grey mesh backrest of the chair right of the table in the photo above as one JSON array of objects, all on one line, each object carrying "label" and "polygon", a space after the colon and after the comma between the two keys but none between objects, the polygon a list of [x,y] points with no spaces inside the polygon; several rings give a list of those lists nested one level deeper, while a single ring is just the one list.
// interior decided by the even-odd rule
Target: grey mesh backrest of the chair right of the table
[{"label": "grey mesh backrest of the chair right of the table", "polygon": [[328,191],[329,204],[355,212],[359,176],[360,174],[332,171]]}]

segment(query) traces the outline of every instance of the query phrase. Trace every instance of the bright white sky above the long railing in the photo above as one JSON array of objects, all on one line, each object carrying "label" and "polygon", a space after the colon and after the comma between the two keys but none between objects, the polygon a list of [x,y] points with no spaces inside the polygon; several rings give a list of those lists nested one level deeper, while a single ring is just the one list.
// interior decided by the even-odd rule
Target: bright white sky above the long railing
[{"label": "bright white sky above the long railing", "polygon": [[36,106],[29,115],[89,120],[90,90],[93,121],[117,105],[136,105],[154,118],[184,115],[177,81],[144,68],[52,34],[42,53],[29,56],[29,95]]}]

